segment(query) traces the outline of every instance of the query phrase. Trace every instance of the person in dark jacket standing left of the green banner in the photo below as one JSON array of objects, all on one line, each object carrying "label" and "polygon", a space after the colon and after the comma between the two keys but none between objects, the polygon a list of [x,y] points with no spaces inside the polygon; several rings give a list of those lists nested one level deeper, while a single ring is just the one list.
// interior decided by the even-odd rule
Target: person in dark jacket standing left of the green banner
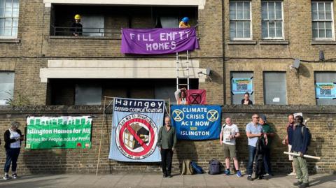
[{"label": "person in dark jacket standing left of the green banner", "polygon": [[18,161],[21,142],[24,138],[20,129],[18,129],[19,126],[20,126],[19,122],[12,122],[10,124],[10,128],[7,131],[5,131],[3,135],[6,149],[6,162],[4,168],[5,176],[3,176],[4,180],[9,179],[8,172],[10,164],[12,164],[12,178],[14,179],[18,178],[18,175],[16,174],[16,166],[17,166],[16,162]]}]

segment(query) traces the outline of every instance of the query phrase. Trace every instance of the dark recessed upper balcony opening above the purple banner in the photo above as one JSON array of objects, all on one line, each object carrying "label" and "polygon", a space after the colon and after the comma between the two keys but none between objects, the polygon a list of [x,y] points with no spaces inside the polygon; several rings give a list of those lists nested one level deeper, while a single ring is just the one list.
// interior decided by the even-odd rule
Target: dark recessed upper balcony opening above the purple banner
[{"label": "dark recessed upper balcony opening above the purple banner", "polygon": [[[83,31],[71,27],[74,15],[81,16]],[[176,6],[73,6],[53,4],[51,8],[50,38],[97,38],[120,40],[121,29],[176,28],[182,17],[197,24],[197,7]]]}]

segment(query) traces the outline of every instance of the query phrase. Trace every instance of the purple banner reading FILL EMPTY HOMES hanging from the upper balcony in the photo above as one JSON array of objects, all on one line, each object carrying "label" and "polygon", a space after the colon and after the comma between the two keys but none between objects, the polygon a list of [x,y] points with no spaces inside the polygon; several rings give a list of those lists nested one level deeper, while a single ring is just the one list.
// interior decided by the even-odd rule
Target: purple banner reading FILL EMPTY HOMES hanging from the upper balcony
[{"label": "purple banner reading FILL EMPTY HOMES hanging from the upper balcony", "polygon": [[123,54],[162,55],[199,48],[196,29],[123,29]]}]

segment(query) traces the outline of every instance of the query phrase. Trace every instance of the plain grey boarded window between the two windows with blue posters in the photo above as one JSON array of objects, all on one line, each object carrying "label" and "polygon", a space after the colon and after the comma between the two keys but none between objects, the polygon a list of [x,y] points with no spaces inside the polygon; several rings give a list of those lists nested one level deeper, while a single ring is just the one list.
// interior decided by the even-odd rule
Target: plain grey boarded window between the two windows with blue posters
[{"label": "plain grey boarded window between the two windows with blue posters", "polygon": [[264,73],[264,101],[265,104],[287,104],[286,73]]}]

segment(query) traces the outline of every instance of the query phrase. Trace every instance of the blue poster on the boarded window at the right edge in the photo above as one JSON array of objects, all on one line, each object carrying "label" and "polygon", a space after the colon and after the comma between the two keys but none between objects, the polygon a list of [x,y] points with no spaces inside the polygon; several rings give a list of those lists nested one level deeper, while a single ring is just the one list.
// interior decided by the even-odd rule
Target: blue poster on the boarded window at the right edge
[{"label": "blue poster on the boarded window at the right edge", "polygon": [[316,99],[336,99],[336,83],[316,83]]}]

